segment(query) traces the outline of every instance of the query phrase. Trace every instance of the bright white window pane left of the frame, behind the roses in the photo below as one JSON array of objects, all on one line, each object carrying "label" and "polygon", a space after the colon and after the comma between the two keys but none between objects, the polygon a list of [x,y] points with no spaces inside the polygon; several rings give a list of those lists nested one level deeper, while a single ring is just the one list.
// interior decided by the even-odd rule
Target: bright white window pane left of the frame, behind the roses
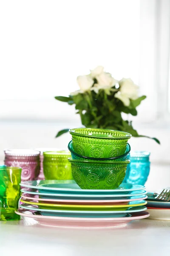
[{"label": "bright white window pane left of the frame, behind the roses", "polygon": [[3,2],[0,24],[1,118],[69,118],[54,96],[99,64],[139,82],[139,0]]}]

